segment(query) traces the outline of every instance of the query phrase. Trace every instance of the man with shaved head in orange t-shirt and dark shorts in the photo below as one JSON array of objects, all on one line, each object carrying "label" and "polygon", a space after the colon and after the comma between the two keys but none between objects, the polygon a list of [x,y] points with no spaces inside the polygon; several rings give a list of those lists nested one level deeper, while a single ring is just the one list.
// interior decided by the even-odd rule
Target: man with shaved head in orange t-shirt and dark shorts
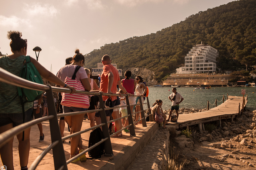
[{"label": "man with shaved head in orange t-shirt and dark shorts", "polygon": [[[103,71],[101,73],[100,91],[103,91],[104,93],[110,93],[110,94],[120,94],[116,90],[117,85],[119,85],[119,88],[122,89],[125,93],[127,93],[125,88],[121,85],[121,80],[120,80],[117,69],[111,64],[111,59],[109,55],[104,55],[101,59],[101,62],[103,64]],[[110,102],[110,97],[111,97],[111,102]],[[103,96],[103,101],[105,106],[114,107],[117,101],[117,97]],[[105,112],[106,112],[107,121],[109,121],[110,116],[112,116],[114,119],[118,118],[117,115],[112,115],[113,110],[106,110]],[[100,112],[95,114],[95,121],[97,125],[101,124]],[[118,124],[119,122],[117,123],[117,126]]]}]

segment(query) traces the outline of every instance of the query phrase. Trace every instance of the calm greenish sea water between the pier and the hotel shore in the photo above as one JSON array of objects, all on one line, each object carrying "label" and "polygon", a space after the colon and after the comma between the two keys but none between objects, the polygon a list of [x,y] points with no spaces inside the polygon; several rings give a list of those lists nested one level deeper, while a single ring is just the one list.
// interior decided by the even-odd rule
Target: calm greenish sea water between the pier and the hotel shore
[{"label": "calm greenish sea water between the pier and the hotel shore", "polygon": [[[207,100],[210,104],[214,104],[215,99],[222,100],[223,95],[227,98],[229,96],[243,96],[241,90],[245,89],[248,94],[248,103],[246,108],[256,110],[256,88],[255,87],[212,87],[212,89],[194,90],[195,87],[179,87],[179,92],[184,98],[180,104],[180,108],[195,108],[204,109],[207,107]],[[156,100],[163,101],[163,110],[171,108],[171,101],[168,96],[172,93],[172,87],[148,87],[149,89],[149,103],[152,106]],[[254,93],[253,93],[254,92]],[[245,95],[246,97],[246,95]],[[220,105],[222,102],[217,102]],[[215,107],[215,104],[209,105],[209,108]]]}]

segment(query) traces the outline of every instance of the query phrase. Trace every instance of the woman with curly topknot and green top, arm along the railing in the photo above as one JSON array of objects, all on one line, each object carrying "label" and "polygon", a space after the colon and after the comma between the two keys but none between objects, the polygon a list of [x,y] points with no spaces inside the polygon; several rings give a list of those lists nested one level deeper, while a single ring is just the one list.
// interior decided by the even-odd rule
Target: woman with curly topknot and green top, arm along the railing
[{"label": "woman with curly topknot and green top, arm along the railing", "polygon": [[[11,51],[10,55],[3,55],[0,57],[0,67],[9,71],[10,73],[20,76],[20,72],[25,61],[25,56],[27,54],[27,40],[21,38],[22,34],[16,31],[9,31],[7,37],[11,39],[10,42]],[[69,88],[72,90],[71,93],[75,93],[74,87],[66,85],[58,77],[52,74],[50,71],[45,69],[39,62],[34,58],[30,57],[30,61],[35,65],[40,75],[47,80],[58,84],[61,87]],[[23,123],[23,113],[20,98],[18,95],[17,87],[14,85],[6,84],[0,82],[0,133],[3,133],[13,127],[16,127]],[[23,97],[25,101],[25,96]],[[25,122],[32,121],[33,102],[26,102],[24,104],[25,110]],[[17,139],[19,141],[19,157],[20,166],[22,170],[28,169],[28,157],[30,149],[30,128],[24,130],[24,139],[22,140],[22,132],[17,134]],[[3,165],[8,167],[8,170],[13,170],[13,137],[5,145],[0,148],[1,159]]]}]

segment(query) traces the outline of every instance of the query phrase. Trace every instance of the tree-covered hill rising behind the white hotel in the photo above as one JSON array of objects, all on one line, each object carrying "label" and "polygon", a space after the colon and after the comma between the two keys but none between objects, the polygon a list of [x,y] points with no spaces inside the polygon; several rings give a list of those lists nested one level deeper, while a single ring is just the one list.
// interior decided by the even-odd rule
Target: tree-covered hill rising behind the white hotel
[{"label": "tree-covered hill rising behind the white hotel", "polygon": [[109,54],[118,68],[142,67],[163,79],[184,65],[184,56],[195,44],[209,44],[219,51],[218,67],[236,70],[256,63],[256,0],[233,1],[191,15],[156,33],[105,44],[85,54],[86,67],[97,67]]}]

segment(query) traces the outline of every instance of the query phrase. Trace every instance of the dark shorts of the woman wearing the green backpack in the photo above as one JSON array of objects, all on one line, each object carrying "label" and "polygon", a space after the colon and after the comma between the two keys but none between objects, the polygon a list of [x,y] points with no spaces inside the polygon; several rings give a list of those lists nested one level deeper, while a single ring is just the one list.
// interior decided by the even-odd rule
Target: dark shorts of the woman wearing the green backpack
[{"label": "dark shorts of the woman wearing the green backpack", "polygon": [[[25,111],[25,123],[33,120],[33,109]],[[23,113],[0,114],[0,127],[13,123],[13,127],[23,124]]]}]

